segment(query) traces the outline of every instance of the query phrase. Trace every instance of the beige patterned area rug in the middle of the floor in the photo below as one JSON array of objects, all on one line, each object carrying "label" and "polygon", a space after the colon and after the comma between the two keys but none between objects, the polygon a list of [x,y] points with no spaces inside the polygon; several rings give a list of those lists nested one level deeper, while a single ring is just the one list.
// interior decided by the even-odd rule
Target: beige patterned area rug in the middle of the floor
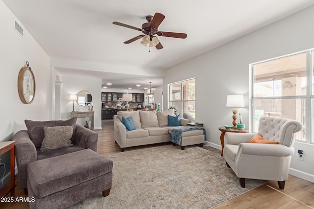
[{"label": "beige patterned area rug in the middle of the floor", "polygon": [[266,181],[245,180],[246,188],[219,154],[198,146],[164,145],[105,155],[113,161],[109,196],[102,193],[72,209],[209,209]]}]

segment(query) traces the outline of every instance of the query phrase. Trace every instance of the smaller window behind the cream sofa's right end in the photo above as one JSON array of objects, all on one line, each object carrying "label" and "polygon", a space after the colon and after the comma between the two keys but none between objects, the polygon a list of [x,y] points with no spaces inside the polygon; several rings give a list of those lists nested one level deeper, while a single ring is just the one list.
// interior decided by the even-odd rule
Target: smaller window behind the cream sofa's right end
[{"label": "smaller window behind the cream sofa's right end", "polygon": [[169,107],[177,109],[177,115],[195,122],[195,78],[168,84]]}]

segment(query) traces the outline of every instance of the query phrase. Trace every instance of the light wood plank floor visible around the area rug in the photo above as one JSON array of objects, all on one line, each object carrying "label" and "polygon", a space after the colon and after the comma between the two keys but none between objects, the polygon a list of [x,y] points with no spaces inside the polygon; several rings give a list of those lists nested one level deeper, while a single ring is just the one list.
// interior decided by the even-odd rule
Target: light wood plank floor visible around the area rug
[{"label": "light wood plank floor visible around the area rug", "polygon": [[[113,139],[113,120],[103,120],[102,125],[102,130],[95,130],[98,133],[97,152],[100,154],[121,152],[120,147],[115,144]],[[125,152],[165,144],[170,143],[131,147],[126,148]],[[221,153],[220,150],[212,147],[204,146],[203,148],[218,154]],[[17,185],[17,181],[15,182]],[[15,196],[27,197],[18,185],[15,188]],[[0,203],[0,208],[28,209],[29,207],[28,203],[20,202]],[[289,175],[285,189],[280,189],[277,182],[270,181],[216,206],[215,209],[314,209],[314,183]]]}]

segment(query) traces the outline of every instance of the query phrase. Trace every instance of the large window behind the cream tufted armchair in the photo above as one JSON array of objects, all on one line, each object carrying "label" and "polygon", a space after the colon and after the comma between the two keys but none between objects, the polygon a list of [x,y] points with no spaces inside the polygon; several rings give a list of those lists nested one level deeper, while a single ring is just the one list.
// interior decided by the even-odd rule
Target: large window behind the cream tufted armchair
[{"label": "large window behind the cream tufted armchair", "polygon": [[250,65],[253,132],[261,116],[283,117],[303,124],[297,141],[314,143],[313,63],[312,49]]}]

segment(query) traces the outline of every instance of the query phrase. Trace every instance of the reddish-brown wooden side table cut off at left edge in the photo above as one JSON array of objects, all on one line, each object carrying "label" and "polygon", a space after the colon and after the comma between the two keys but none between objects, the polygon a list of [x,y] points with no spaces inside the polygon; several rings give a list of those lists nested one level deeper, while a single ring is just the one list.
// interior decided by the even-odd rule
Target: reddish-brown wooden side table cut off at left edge
[{"label": "reddish-brown wooden side table cut off at left edge", "polygon": [[9,192],[11,192],[11,197],[14,198],[14,144],[16,141],[1,141],[0,142],[0,155],[11,150],[11,175],[10,175],[10,187],[0,189],[0,197],[5,197]]}]

